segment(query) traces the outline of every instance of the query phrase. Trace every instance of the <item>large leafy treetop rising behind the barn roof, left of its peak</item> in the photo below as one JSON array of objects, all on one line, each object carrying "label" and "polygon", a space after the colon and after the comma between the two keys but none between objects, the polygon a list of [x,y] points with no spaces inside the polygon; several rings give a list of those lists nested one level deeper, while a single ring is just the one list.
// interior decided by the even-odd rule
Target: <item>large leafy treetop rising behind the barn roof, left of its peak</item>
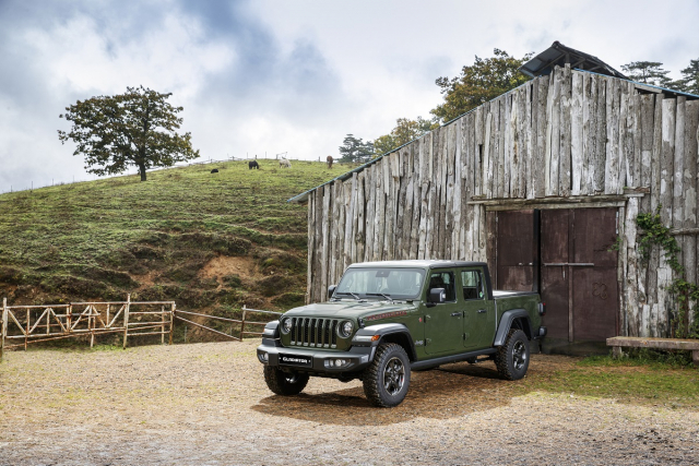
[{"label": "large leafy treetop rising behind the barn roof, left of its peak", "polygon": [[435,117],[442,122],[453,120],[530,80],[519,68],[533,53],[521,59],[497,48],[493,53],[494,57],[486,59],[476,56],[475,62],[463,67],[457,77],[438,77],[435,81],[445,97],[445,101],[431,110]]}]

